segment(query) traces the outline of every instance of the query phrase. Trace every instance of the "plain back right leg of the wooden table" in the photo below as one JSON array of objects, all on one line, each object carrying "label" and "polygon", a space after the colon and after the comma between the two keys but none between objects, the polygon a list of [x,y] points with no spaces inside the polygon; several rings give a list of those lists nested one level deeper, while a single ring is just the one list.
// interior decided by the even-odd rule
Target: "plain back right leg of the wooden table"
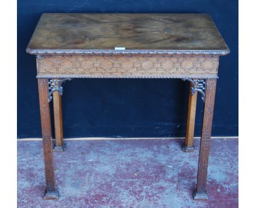
[{"label": "plain back right leg of the wooden table", "polygon": [[193,85],[190,83],[189,88],[189,100],[188,100],[188,117],[187,117],[187,129],[185,137],[185,145],[183,150],[185,152],[194,152],[194,130],[195,130],[195,114],[196,114],[196,100],[197,100],[197,91],[195,94],[191,94],[191,87]]}]

